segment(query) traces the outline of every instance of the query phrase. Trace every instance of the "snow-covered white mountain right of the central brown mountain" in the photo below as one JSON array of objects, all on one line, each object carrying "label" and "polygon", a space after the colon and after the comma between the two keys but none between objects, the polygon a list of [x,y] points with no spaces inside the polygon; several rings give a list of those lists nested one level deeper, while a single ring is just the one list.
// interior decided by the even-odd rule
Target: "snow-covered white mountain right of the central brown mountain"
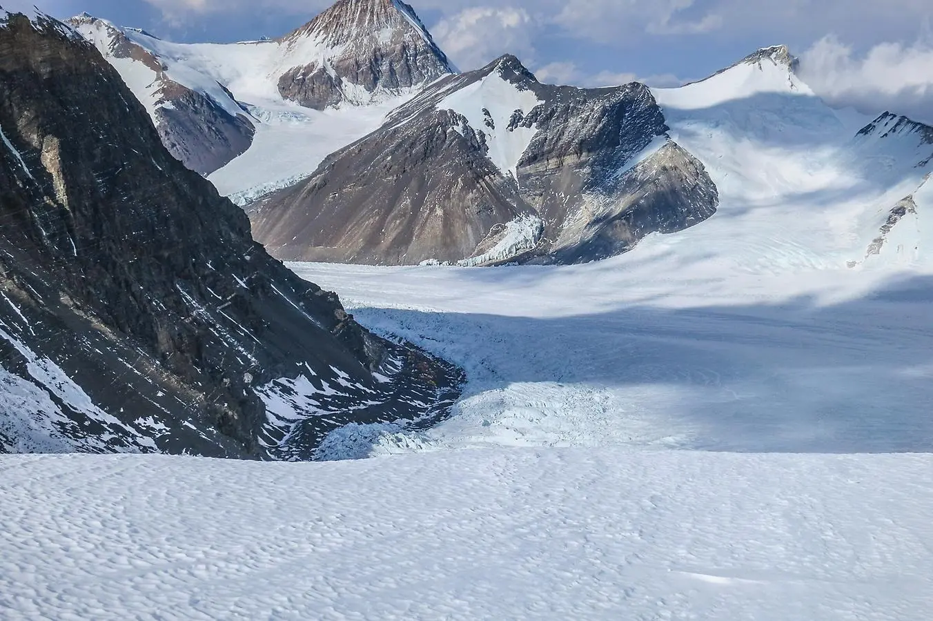
[{"label": "snow-covered white mountain right of the central brown mountain", "polygon": [[933,128],[833,109],[797,68],[787,47],[774,46],[699,82],[652,90],[734,221],[728,237],[707,229],[708,242],[741,243],[756,263],[780,255],[771,269],[925,260]]}]

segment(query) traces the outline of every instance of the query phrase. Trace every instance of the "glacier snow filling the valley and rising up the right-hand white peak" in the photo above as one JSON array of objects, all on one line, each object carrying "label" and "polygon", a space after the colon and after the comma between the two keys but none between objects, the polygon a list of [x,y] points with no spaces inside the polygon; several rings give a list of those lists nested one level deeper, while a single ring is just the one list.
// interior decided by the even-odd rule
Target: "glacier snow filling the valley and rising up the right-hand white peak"
[{"label": "glacier snow filling the valley and rising up the right-hand white peak", "polygon": [[[795,79],[765,59],[689,85],[689,97],[655,90],[720,205],[626,255],[497,269],[292,264],[371,329],[466,369],[449,421],[355,434],[369,444],[345,454],[933,450],[933,186],[918,165],[933,145],[911,131],[856,136]],[[720,82],[742,88],[730,99]],[[908,195],[917,213],[866,258]]]}]

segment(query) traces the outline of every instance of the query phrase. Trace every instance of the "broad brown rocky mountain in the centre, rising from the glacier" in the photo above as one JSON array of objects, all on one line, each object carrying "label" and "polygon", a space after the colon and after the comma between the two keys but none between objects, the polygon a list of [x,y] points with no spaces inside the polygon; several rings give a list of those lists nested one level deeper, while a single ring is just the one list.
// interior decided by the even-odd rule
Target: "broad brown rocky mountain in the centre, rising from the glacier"
[{"label": "broad brown rocky mountain in the centre, rising from the glacier", "polygon": [[250,206],[284,259],[578,262],[717,207],[647,87],[537,82],[515,57],[450,76],[309,179]]}]

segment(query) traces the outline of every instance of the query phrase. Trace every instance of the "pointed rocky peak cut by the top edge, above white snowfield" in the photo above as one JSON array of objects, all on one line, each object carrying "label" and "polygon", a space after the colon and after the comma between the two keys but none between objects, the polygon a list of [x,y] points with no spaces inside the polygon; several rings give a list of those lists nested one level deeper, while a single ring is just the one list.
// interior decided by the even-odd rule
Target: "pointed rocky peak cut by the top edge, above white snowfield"
[{"label": "pointed rocky peak cut by the top edge, above white snowfield", "polygon": [[278,79],[289,101],[316,110],[368,104],[453,73],[414,10],[399,0],[339,0],[280,39],[293,62]]}]

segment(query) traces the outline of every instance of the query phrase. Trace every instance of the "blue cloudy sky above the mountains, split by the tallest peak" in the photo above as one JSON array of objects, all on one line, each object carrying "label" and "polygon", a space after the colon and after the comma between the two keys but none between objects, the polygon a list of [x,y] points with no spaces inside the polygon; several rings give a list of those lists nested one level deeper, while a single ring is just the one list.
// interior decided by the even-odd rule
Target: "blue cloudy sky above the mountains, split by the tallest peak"
[{"label": "blue cloudy sky above the mountains, split by the tallest peak", "polygon": [[[35,1],[35,0],[34,0]],[[409,0],[461,69],[510,52],[541,81],[675,86],[784,44],[830,104],[933,123],[930,0]],[[7,10],[29,0],[0,0]],[[39,0],[180,42],[285,34],[329,0]]]}]

